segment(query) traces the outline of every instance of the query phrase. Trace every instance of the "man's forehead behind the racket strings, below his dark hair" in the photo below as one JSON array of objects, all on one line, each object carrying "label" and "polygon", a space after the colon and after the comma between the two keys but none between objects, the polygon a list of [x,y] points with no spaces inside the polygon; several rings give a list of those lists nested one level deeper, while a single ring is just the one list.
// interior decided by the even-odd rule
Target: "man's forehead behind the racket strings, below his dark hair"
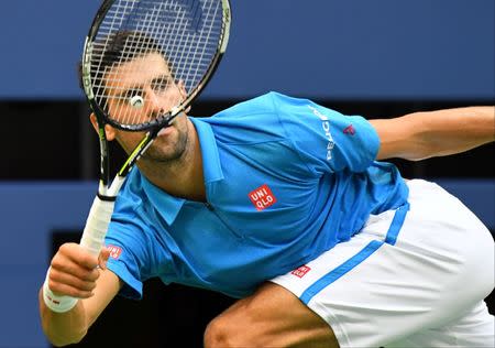
[{"label": "man's forehead behind the racket strings, below his dark hair", "polygon": [[113,65],[105,76],[107,89],[121,90],[125,87],[145,85],[156,76],[169,75],[170,70],[160,53],[139,56],[132,61]]}]

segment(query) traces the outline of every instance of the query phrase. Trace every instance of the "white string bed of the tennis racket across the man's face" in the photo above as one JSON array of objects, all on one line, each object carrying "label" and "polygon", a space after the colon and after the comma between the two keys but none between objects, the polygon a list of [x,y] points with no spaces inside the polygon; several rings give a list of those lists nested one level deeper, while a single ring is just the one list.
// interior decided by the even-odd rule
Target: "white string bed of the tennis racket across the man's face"
[{"label": "white string bed of the tennis racket across the man's face", "polygon": [[[221,9],[217,0],[114,1],[98,29],[91,56],[95,99],[108,117],[122,126],[152,122],[199,89],[218,52]],[[160,75],[153,67],[128,64],[156,53],[169,72]],[[153,102],[163,110],[152,110]]]}]

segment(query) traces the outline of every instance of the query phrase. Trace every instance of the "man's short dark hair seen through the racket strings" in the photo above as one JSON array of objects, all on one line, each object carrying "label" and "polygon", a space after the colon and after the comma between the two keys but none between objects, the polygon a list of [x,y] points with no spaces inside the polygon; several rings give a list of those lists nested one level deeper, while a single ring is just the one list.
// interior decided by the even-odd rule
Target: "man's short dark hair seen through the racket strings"
[{"label": "man's short dark hair seen through the racket strings", "polygon": [[[91,66],[98,65],[98,72],[91,69],[91,81],[94,86],[101,86],[107,67],[111,67],[116,63],[125,63],[136,57],[160,53],[165,59],[163,47],[152,36],[140,31],[117,31],[107,37],[98,39],[94,42],[91,54]],[[80,87],[82,86],[82,63],[79,62],[78,74]],[[172,72],[170,72],[172,74]],[[101,97],[97,100],[100,106],[107,109],[107,98]]]}]

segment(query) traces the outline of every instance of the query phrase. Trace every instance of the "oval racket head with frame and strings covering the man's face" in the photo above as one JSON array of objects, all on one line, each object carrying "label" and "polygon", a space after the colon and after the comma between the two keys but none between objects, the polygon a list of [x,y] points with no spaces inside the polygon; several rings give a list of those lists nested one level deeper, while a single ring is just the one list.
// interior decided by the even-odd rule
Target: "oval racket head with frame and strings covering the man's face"
[{"label": "oval racket head with frame and strings covering the man's face", "polygon": [[210,80],[230,23],[229,0],[103,1],[81,61],[81,85],[100,127],[168,126]]}]

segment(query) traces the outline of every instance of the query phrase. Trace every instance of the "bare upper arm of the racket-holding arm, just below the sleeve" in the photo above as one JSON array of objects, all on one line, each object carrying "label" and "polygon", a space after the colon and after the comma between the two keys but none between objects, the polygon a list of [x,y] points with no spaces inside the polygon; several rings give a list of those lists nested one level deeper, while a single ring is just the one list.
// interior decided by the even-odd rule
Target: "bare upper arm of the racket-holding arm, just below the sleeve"
[{"label": "bare upper arm of the racket-holding arm, just below the sleeve", "polygon": [[86,312],[87,327],[95,323],[123,285],[119,276],[108,269],[100,270],[100,276],[96,283],[94,295],[81,300]]}]

